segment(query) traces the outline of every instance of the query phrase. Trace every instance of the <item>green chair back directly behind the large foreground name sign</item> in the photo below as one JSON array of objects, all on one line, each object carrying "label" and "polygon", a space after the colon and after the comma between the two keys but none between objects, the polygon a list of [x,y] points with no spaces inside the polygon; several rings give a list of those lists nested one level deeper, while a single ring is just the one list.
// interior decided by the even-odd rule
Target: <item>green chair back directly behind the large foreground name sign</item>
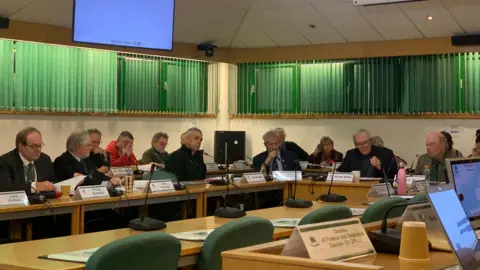
[{"label": "green chair back directly behind the large foreground name sign", "polygon": [[298,225],[351,218],[352,211],[345,205],[327,205],[304,216]]}]

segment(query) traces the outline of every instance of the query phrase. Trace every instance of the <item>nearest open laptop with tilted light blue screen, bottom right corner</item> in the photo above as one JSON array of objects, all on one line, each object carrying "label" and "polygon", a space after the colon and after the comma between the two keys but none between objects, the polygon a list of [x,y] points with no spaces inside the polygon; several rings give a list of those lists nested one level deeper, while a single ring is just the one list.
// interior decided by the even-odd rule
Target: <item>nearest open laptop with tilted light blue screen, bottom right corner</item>
[{"label": "nearest open laptop with tilted light blue screen, bottom right corner", "polygon": [[480,270],[480,245],[453,185],[430,187],[427,196],[458,264],[465,270]]}]

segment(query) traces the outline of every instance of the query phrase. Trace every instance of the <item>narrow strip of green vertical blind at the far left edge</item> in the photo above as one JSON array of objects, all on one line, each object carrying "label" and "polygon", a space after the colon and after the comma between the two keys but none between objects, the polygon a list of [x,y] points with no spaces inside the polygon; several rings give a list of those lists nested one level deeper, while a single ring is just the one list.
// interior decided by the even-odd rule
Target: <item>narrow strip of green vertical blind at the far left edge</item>
[{"label": "narrow strip of green vertical blind at the far left edge", "polygon": [[13,41],[0,40],[0,110],[13,106]]}]

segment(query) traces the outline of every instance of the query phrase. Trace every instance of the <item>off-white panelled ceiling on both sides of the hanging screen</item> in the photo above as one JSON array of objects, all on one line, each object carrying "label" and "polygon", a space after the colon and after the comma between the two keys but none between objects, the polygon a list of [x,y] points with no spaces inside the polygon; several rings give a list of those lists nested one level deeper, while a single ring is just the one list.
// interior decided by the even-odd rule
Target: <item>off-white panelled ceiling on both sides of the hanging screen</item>
[{"label": "off-white panelled ceiling on both sides of the hanging screen", "polygon": [[[72,2],[0,0],[0,16],[71,28]],[[254,48],[444,37],[479,33],[479,14],[480,0],[371,7],[352,0],[176,0],[175,41]]]}]

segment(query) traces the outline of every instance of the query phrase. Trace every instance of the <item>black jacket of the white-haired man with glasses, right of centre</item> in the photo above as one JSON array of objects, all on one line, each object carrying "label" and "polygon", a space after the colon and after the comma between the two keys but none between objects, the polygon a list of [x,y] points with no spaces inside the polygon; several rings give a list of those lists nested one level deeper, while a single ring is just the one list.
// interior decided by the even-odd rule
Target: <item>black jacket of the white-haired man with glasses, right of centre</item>
[{"label": "black jacket of the white-haired man with glasses, right of centre", "polygon": [[[382,164],[381,170],[377,170],[372,165],[369,165],[369,168],[362,168],[362,161],[372,157],[377,157],[380,160],[380,163]],[[348,150],[345,158],[343,159],[342,165],[340,165],[340,167],[337,169],[339,172],[360,171],[362,177],[366,176],[382,178],[384,177],[383,170],[385,170],[388,178],[393,178],[395,174],[397,174],[398,166],[395,160],[395,155],[393,154],[392,150],[375,145],[372,145],[372,151],[367,156],[362,155],[357,148]],[[373,175],[365,175],[365,171],[371,171]]]}]

